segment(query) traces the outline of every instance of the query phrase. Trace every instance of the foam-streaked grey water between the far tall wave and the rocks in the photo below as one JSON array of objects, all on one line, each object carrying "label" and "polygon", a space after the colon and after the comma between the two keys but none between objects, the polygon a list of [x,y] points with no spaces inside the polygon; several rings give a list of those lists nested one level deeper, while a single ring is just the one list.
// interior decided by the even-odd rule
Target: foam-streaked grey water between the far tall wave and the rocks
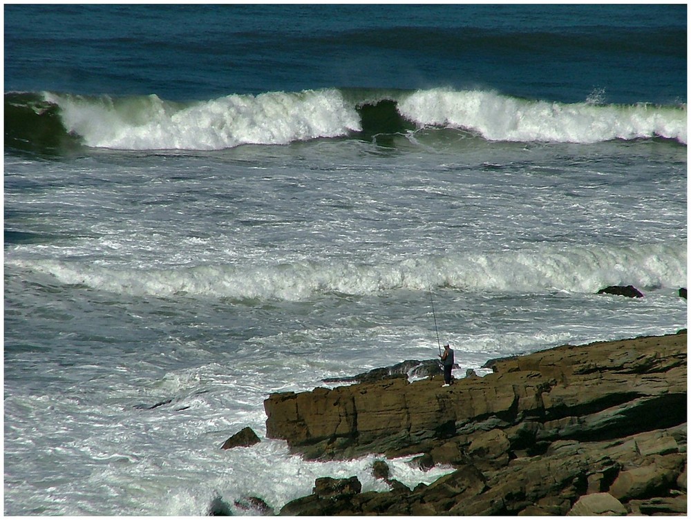
[{"label": "foam-streaked grey water between the far tall wave and the rocks", "polygon": [[[685,326],[680,142],[389,142],[6,157],[6,512],[252,514],[234,503],[278,509],[325,475],[384,490],[375,456],[265,439],[263,399],[434,358],[430,287],[457,377]],[[596,294],[629,284],[645,298]],[[220,450],[245,426],[262,443]],[[390,465],[411,487],[448,470],[409,461]]]}]

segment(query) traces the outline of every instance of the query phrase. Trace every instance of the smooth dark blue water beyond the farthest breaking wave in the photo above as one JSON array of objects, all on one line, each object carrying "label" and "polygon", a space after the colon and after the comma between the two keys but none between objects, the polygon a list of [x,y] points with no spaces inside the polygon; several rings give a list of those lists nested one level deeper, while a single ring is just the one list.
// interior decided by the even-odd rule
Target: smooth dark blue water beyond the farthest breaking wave
[{"label": "smooth dark blue water beyond the farthest breaking wave", "polygon": [[5,91],[686,99],[686,6],[5,6]]}]

